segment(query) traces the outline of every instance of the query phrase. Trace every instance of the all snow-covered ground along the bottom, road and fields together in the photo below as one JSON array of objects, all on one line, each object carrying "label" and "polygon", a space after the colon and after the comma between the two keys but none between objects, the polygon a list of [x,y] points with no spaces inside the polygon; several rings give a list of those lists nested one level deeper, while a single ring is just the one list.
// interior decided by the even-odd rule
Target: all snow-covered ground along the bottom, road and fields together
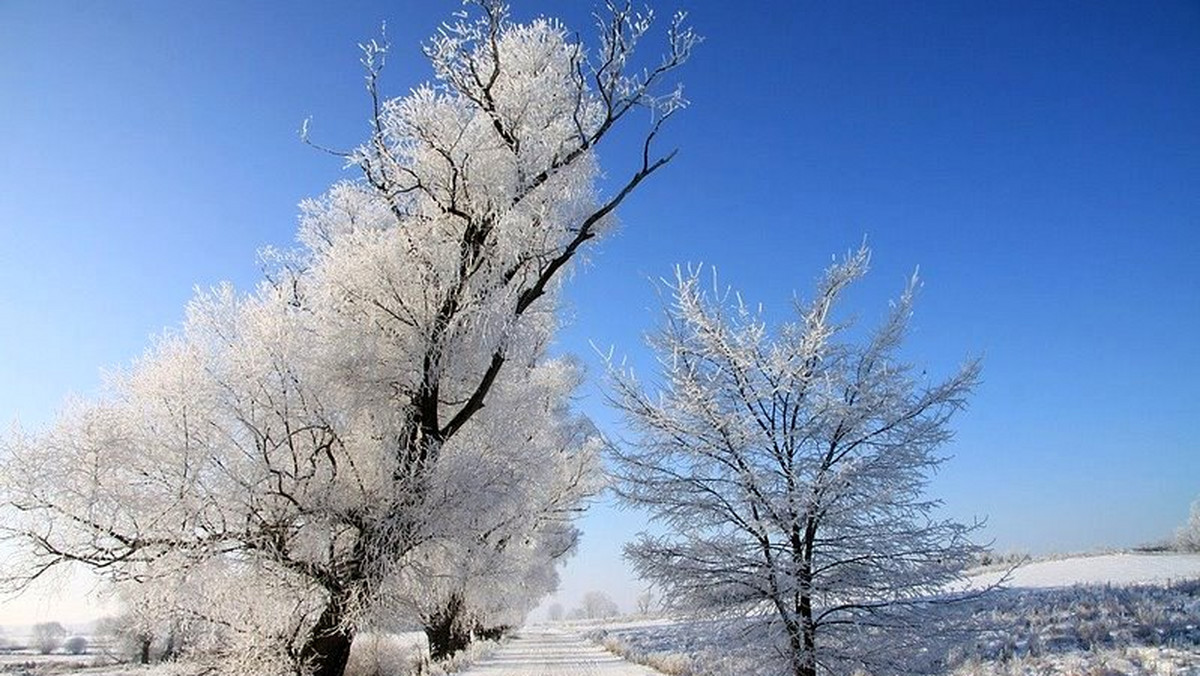
[{"label": "all snow-covered ground along the bottom, road and fields together", "polygon": [[[977,576],[986,585],[997,573]],[[962,609],[978,630],[932,663],[953,676],[1200,676],[1200,555],[1109,554],[1033,562],[1009,588]],[[584,639],[589,635],[596,642]],[[751,676],[760,651],[730,622],[642,618],[523,630],[467,676]],[[737,650],[737,648],[744,650]],[[348,672],[408,676],[426,654],[421,634],[355,641]],[[624,656],[629,662],[623,659]],[[185,669],[100,666],[100,656],[0,654],[0,674],[184,676]],[[469,660],[467,660],[469,662]],[[648,664],[656,671],[632,663]],[[449,665],[454,671],[461,665]],[[427,668],[426,668],[427,669]],[[442,671],[434,668],[434,671]]]}]

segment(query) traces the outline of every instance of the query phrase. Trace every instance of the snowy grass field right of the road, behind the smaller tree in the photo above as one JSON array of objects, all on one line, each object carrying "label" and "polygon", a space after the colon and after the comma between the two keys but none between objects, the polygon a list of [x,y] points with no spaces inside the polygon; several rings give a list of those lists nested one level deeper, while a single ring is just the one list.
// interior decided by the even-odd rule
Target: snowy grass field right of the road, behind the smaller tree
[{"label": "snowy grass field right of the road, behind the smaller tree", "polygon": [[[978,576],[980,585],[998,574]],[[977,630],[926,656],[954,676],[1200,676],[1200,556],[1112,554],[1033,562],[959,610]],[[769,674],[728,621],[643,620],[594,629],[602,645],[676,676]],[[745,650],[738,650],[739,647]],[[937,665],[931,666],[931,665]]]}]

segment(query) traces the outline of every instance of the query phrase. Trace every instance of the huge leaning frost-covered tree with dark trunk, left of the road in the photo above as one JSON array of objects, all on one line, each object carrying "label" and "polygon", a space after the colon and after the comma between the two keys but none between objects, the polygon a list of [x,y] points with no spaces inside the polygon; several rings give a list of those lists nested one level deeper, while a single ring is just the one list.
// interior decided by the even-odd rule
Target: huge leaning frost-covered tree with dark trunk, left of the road
[{"label": "huge leaning frost-covered tree with dark trunk, left of the road", "polygon": [[[380,609],[454,586],[420,575],[444,556],[476,616],[532,608],[594,486],[576,378],[546,355],[557,289],[670,162],[653,142],[683,100],[661,80],[696,42],[676,17],[643,68],[650,17],[607,10],[586,49],[480,0],[426,46],[436,80],[394,100],[367,44],[371,133],[340,154],[361,178],[304,204],[301,249],[5,439],[0,537],[30,554],[7,581],[78,562],[155,585],[139,598],[211,628],[192,657],[227,674],[340,675]],[[638,162],[604,193],[596,148],[635,110]],[[491,575],[527,593],[476,593]]]}]

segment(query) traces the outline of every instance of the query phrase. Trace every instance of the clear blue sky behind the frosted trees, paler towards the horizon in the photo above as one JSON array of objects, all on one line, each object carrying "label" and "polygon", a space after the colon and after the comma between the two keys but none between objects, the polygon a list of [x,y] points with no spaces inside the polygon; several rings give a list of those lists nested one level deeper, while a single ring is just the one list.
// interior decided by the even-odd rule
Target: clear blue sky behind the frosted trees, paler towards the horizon
[{"label": "clear blue sky behind the frosted trees, paler towards the horizon", "polygon": [[[676,263],[784,316],[864,235],[881,316],[920,265],[910,353],[985,382],[934,484],[1000,549],[1164,537],[1200,493],[1200,6],[678,0],[707,41],[682,150],[570,282],[564,351],[644,360]],[[584,2],[521,2],[587,32]],[[347,175],[298,140],[366,132],[456,2],[0,2],[0,419],[47,421],[176,324],[193,285],[257,279],[296,203]],[[629,148],[606,149],[612,177]],[[583,408],[618,432],[594,388]],[[619,586],[638,519],[598,509],[568,592]],[[618,593],[617,596],[622,596]],[[568,603],[571,597],[564,597]]]}]

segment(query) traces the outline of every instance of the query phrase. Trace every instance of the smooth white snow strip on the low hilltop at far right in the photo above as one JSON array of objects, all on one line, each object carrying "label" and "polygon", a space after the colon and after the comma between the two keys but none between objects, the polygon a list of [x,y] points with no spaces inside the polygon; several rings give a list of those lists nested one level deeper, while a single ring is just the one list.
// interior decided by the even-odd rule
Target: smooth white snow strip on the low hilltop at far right
[{"label": "smooth white snow strip on the low hilltop at far right", "polygon": [[[988,573],[976,580],[990,582],[998,575]],[[1013,572],[1008,586],[1159,585],[1194,579],[1200,579],[1200,554],[1105,554],[1027,563]]]}]

